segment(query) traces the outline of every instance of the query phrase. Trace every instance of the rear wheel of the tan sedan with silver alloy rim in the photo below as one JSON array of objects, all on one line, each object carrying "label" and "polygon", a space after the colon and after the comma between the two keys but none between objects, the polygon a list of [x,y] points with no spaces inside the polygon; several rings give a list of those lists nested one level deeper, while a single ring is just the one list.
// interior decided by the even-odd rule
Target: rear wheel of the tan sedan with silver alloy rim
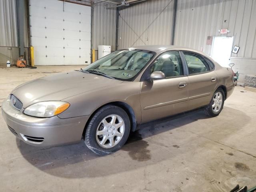
[{"label": "rear wheel of the tan sedan with silver alloy rim", "polygon": [[[220,104],[220,99],[216,100],[216,94],[221,94],[221,97],[222,97],[222,103]],[[222,88],[218,88],[213,96],[212,96],[212,99],[210,101],[210,103],[204,108],[204,113],[207,115],[207,116],[211,116],[211,117],[216,117],[220,114],[220,112],[222,111],[222,108],[224,106],[224,101],[225,101],[225,94],[224,94],[224,91]],[[218,103],[218,104],[215,104],[214,106],[214,103]],[[214,107],[213,107],[214,106]]]}]

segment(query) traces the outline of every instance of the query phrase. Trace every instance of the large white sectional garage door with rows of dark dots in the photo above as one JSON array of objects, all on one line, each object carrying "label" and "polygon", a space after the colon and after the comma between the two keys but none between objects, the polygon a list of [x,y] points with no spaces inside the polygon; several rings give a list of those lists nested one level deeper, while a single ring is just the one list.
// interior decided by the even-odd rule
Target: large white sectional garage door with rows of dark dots
[{"label": "large white sectional garage door with rows of dark dots", "polygon": [[30,25],[35,65],[90,64],[90,6],[30,0]]}]

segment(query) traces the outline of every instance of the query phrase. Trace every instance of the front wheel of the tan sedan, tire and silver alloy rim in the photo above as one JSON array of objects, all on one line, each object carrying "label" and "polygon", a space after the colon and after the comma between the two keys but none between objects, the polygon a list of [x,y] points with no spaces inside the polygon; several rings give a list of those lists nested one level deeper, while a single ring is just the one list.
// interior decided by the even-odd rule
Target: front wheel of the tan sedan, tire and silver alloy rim
[{"label": "front wheel of the tan sedan, tire and silver alloy rim", "polygon": [[128,114],[118,106],[107,105],[100,108],[91,118],[84,142],[94,153],[106,155],[119,150],[129,134]]}]

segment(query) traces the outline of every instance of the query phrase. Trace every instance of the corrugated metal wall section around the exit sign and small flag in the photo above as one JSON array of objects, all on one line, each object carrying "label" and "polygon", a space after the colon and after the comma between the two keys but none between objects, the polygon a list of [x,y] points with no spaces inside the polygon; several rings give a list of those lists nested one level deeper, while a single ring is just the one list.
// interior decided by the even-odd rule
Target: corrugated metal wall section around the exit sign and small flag
[{"label": "corrugated metal wall section around the exit sign and small flag", "polygon": [[[218,30],[228,29],[221,35]],[[210,55],[207,36],[234,36],[235,57],[256,58],[256,0],[178,0],[175,45]]]}]

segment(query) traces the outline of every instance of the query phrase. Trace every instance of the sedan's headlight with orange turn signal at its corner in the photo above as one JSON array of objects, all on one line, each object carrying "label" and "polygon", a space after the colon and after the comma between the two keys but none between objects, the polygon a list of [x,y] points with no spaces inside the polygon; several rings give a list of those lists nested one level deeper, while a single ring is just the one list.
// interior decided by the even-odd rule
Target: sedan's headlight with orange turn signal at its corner
[{"label": "sedan's headlight with orange turn signal at its corner", "polygon": [[52,117],[64,112],[70,106],[64,101],[44,101],[28,106],[24,114],[34,117]]}]

